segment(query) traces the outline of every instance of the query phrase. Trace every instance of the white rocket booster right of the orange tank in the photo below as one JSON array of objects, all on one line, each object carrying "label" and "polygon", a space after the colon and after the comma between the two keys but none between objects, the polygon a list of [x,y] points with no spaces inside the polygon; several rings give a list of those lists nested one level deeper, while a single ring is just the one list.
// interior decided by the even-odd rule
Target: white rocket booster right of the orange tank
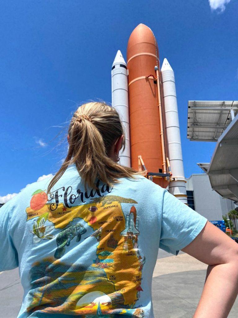
[{"label": "white rocket booster right of the orange tank", "polygon": [[162,68],[163,101],[165,108],[165,130],[167,134],[169,161],[174,181],[169,183],[169,192],[187,204],[187,193],[183,170],[182,147],[179,129],[175,77],[172,67],[164,59]]}]

